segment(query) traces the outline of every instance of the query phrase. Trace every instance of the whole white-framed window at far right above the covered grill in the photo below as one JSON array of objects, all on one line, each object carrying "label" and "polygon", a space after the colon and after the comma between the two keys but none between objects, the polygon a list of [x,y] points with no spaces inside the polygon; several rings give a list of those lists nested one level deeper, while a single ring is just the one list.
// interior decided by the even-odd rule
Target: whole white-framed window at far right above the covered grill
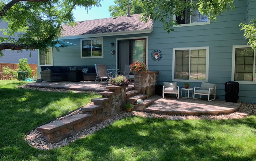
[{"label": "whole white-framed window at far right above the covered grill", "polygon": [[256,84],[255,50],[250,45],[236,45],[232,56],[232,81]]}]

